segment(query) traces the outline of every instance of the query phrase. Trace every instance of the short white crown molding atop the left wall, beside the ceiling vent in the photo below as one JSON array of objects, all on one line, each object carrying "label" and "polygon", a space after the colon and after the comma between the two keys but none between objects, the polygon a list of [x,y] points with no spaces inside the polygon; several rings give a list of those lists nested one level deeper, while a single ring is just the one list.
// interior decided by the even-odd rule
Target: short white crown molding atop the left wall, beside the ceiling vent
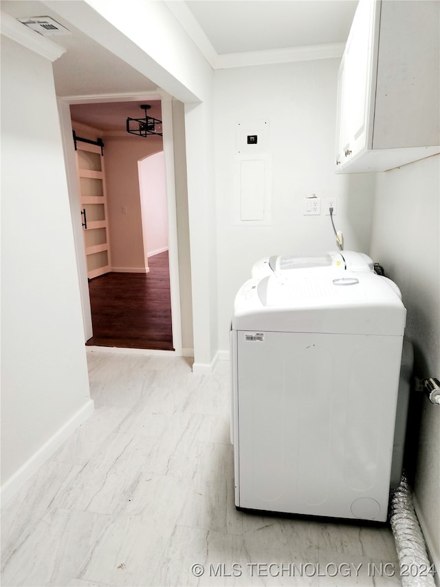
[{"label": "short white crown molding atop the left wall, beside the ceiling vent", "polygon": [[1,34],[12,39],[12,41],[23,45],[23,47],[38,53],[50,61],[56,61],[66,51],[61,45],[45,39],[44,36],[23,25],[23,23],[11,17],[7,12],[3,12],[3,10],[0,16],[0,31]]}]

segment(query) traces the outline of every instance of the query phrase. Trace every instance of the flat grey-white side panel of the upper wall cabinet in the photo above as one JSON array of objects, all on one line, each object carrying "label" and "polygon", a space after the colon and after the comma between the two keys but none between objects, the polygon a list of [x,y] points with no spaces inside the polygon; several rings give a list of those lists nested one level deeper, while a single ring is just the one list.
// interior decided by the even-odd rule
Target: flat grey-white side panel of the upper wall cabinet
[{"label": "flat grey-white side panel of the upper wall cabinet", "polygon": [[382,2],[373,149],[440,144],[439,23],[439,2]]}]

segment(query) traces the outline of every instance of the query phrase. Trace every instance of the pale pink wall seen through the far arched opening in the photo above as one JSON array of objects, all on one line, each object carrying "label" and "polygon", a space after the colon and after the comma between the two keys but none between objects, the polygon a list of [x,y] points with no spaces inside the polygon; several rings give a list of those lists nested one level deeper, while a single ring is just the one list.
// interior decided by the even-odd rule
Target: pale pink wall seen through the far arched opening
[{"label": "pale pink wall seen through the far arched opening", "polygon": [[140,160],[137,167],[139,169],[144,250],[146,255],[150,257],[168,249],[164,151]]}]

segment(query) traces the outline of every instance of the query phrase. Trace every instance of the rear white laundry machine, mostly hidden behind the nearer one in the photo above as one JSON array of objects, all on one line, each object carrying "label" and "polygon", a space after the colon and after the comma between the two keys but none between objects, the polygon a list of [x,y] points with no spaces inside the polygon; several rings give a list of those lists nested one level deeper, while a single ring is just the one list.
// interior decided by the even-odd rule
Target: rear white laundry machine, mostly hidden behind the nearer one
[{"label": "rear white laundry machine, mostly hidden behind the nearer one", "polygon": [[327,251],[314,255],[273,255],[263,257],[252,266],[252,277],[284,275],[295,277],[298,270],[373,271],[373,260],[354,250]]}]

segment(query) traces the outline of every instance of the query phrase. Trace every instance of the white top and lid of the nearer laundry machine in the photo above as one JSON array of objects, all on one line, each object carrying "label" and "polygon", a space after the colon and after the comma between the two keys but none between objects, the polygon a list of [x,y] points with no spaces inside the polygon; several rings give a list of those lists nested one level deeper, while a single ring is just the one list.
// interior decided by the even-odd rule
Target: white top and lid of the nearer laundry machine
[{"label": "white top and lid of the nearer laundry machine", "polygon": [[398,288],[389,279],[335,270],[247,281],[236,295],[232,327],[397,335],[404,332],[405,318]]}]

